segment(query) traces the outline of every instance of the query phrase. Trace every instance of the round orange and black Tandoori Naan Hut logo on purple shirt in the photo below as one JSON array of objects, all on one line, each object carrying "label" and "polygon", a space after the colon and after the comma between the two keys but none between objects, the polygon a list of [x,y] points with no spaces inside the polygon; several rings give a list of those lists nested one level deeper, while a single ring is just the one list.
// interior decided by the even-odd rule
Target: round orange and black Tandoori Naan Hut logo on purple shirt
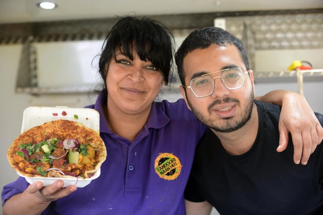
[{"label": "round orange and black Tandoori Naan Hut logo on purple shirt", "polygon": [[161,153],[155,159],[155,171],[160,178],[166,180],[176,179],[182,169],[180,160],[173,154]]}]

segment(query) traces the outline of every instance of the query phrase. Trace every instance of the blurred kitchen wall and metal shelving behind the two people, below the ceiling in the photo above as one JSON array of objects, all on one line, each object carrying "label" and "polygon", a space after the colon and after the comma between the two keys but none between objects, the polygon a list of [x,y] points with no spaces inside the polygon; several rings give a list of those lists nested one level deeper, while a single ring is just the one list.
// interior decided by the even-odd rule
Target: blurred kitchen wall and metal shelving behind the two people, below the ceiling
[{"label": "blurred kitchen wall and metal shelving behind the two people, below the ceiling", "polygon": [[[320,95],[323,92],[323,2],[313,3],[315,7],[306,9],[294,5],[294,8],[285,6],[284,10],[266,7],[251,10],[254,5],[250,5],[249,9],[244,6],[243,10],[236,11],[176,13],[170,10],[173,14],[149,15],[172,29],[177,45],[195,28],[211,25],[226,28],[248,50],[257,96],[275,89],[303,93],[312,109],[323,113]],[[2,6],[6,5],[0,0],[0,12],[4,10]],[[17,178],[6,152],[20,133],[23,110],[28,106],[83,107],[93,103],[96,95],[91,91],[100,84],[96,55],[104,36],[117,20],[115,15],[143,15],[129,11],[133,10],[110,17],[85,16],[86,19],[74,20],[61,17],[15,21],[0,15],[0,72],[3,75],[0,79],[0,168],[3,170],[0,187]],[[7,17],[10,17],[8,13]],[[298,83],[296,71],[287,70],[294,60],[312,65],[313,70],[303,74],[302,83]],[[175,73],[172,83],[158,99],[176,101],[181,98],[178,87]]]}]

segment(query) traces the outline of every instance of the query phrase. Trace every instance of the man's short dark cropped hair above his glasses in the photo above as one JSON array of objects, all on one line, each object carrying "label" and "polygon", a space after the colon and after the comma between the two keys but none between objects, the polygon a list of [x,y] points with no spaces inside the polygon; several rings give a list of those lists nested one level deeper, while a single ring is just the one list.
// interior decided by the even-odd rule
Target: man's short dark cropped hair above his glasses
[{"label": "man's short dark cropped hair above his glasses", "polygon": [[182,85],[185,85],[185,74],[183,71],[183,59],[184,57],[195,49],[203,49],[209,47],[211,44],[219,46],[226,46],[232,44],[240,52],[242,60],[249,70],[249,61],[247,52],[243,47],[241,40],[232,35],[226,30],[217,27],[206,27],[194,30],[191,32],[186,39],[183,41],[179,49],[175,54],[175,61],[177,65],[178,76],[181,80]]}]

